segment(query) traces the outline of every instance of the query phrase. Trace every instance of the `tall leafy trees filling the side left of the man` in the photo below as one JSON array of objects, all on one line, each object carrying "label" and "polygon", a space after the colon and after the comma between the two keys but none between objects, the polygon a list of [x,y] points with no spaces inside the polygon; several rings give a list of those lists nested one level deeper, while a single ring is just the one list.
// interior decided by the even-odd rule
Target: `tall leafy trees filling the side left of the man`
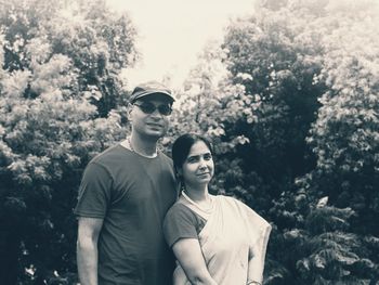
[{"label": "tall leafy trees filling the side left of the man", "polygon": [[0,280],[41,283],[76,271],[78,183],[127,131],[134,29],[104,1],[30,0],[2,3],[0,30]]}]

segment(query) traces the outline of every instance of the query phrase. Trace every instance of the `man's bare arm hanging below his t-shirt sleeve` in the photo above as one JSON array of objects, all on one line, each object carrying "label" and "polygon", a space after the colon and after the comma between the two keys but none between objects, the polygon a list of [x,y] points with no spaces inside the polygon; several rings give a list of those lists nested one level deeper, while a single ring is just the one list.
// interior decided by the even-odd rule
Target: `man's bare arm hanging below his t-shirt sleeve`
[{"label": "man's bare arm hanging below his t-shirt sleeve", "polygon": [[81,285],[97,285],[97,239],[103,219],[79,218],[77,263]]}]

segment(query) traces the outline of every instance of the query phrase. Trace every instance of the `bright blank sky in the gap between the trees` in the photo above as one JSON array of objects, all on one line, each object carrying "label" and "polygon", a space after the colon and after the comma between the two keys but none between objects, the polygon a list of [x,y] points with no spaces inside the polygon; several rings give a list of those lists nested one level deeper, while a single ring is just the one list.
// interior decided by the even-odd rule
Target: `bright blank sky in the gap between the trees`
[{"label": "bright blank sky in the gap between the trees", "polygon": [[254,0],[107,0],[128,11],[139,31],[143,62],[127,72],[128,86],[172,79],[179,88],[197,54],[210,40],[221,40],[230,18],[251,14]]}]

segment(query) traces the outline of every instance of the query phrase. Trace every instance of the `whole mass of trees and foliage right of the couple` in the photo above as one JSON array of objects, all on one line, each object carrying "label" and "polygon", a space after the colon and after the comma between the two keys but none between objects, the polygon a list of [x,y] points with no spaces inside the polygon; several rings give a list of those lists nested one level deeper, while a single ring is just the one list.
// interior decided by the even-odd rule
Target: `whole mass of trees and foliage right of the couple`
[{"label": "whole mass of trees and foliage right of the couple", "polygon": [[[262,3],[230,25],[215,57],[206,49],[173,133],[212,137],[214,191],[274,223],[267,284],[369,284],[378,278],[377,248],[365,242],[376,239],[379,189],[375,3]],[[226,67],[221,81],[214,59]],[[312,206],[322,195],[335,206]]]}]

